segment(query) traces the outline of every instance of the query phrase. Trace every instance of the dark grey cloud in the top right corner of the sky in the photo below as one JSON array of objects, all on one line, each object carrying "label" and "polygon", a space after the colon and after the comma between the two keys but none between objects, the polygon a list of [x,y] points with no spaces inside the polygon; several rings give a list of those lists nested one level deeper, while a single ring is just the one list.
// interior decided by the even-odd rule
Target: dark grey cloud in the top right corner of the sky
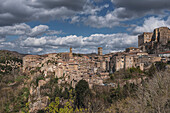
[{"label": "dark grey cloud in the top right corner of the sky", "polygon": [[[146,14],[161,14],[164,10],[170,11],[169,0],[111,0],[119,8],[126,10],[119,13],[120,18],[140,17]],[[126,15],[124,15],[126,14]]]}]

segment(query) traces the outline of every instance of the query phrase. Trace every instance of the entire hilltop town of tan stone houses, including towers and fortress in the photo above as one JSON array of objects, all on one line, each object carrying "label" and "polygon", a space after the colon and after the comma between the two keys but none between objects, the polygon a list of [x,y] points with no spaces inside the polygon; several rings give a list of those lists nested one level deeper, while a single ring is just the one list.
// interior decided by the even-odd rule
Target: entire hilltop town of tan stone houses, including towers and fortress
[{"label": "entire hilltop town of tan stone houses, including towers and fortress", "polygon": [[138,37],[138,46],[126,48],[124,52],[105,55],[102,54],[101,47],[98,48],[98,54],[74,54],[70,48],[69,53],[27,55],[23,58],[23,72],[53,75],[61,78],[59,84],[66,82],[72,87],[84,79],[92,88],[94,84],[102,85],[103,80],[115,71],[131,67],[138,67],[143,71],[155,62],[168,62],[170,29],[160,27],[153,33],[144,32]]}]

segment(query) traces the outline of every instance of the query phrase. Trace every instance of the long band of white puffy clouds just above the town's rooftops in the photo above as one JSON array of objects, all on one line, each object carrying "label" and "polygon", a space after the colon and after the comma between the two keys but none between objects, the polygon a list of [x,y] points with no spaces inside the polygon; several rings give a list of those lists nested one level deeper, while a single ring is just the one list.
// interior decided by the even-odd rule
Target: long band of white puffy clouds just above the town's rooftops
[{"label": "long band of white puffy clouds just above the town's rooftops", "polygon": [[[55,36],[58,33],[62,33],[62,31],[50,30],[47,25],[31,28],[22,23],[0,27],[0,47],[21,53],[44,54],[52,51],[63,52],[69,47],[73,47],[76,52],[91,53],[95,52],[97,47],[100,46],[103,47],[105,53],[108,53],[137,46],[137,37],[126,33],[92,34],[87,37],[77,35]],[[14,41],[5,41],[5,36],[13,35],[19,38]]]}]

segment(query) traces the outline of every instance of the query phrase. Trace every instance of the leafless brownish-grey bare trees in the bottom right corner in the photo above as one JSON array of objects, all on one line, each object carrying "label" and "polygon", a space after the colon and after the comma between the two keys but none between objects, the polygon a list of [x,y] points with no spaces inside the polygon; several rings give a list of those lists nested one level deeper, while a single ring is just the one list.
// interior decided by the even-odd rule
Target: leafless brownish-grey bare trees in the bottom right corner
[{"label": "leafless brownish-grey bare trees in the bottom right corner", "polygon": [[170,70],[158,72],[136,92],[136,97],[118,101],[108,109],[116,113],[168,113],[170,111]]}]

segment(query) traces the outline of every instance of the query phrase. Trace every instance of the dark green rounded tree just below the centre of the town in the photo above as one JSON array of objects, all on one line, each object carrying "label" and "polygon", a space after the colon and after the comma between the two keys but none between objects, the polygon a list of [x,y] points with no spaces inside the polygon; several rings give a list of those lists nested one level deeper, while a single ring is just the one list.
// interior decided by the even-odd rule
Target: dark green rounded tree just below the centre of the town
[{"label": "dark green rounded tree just below the centre of the town", "polygon": [[89,96],[90,94],[90,89],[89,85],[85,80],[80,80],[75,88],[76,92],[76,105],[78,108],[82,107],[85,108],[85,98]]}]

